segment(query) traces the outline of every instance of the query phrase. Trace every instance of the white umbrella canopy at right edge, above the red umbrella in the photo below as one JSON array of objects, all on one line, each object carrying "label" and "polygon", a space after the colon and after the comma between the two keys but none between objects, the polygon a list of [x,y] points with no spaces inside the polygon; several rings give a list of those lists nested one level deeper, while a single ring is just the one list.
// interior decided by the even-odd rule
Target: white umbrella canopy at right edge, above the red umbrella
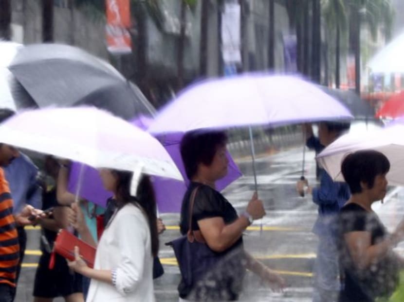
[{"label": "white umbrella canopy at right edge, above the red umbrella", "polygon": [[404,32],[380,50],[367,64],[372,73],[404,72]]}]

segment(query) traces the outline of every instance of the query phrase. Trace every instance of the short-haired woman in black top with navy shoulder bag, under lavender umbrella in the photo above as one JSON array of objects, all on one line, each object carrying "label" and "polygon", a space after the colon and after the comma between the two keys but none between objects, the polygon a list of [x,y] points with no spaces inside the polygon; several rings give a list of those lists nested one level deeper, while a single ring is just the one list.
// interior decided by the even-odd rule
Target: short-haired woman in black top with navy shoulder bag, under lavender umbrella
[{"label": "short-haired woman in black top with navy shoulder bag, under lavender umbrella", "polygon": [[279,275],[243,249],[242,233],[254,219],[265,215],[262,201],[254,193],[246,211],[238,216],[230,202],[216,190],[216,181],[227,174],[226,142],[226,134],[219,131],[189,132],[181,141],[181,156],[190,180],[181,208],[181,233],[188,232],[189,205],[193,199],[192,231],[200,234],[207,246],[220,257],[225,256],[225,260],[203,272],[192,285],[182,280],[178,287],[180,301],[238,300],[245,268],[275,287],[285,285]]}]

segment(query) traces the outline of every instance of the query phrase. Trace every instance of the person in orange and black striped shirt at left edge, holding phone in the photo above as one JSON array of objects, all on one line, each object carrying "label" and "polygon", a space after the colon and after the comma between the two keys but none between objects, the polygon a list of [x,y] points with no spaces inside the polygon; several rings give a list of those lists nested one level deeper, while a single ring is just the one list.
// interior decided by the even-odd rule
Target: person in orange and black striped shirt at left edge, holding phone
[{"label": "person in orange and black striped shirt at left edge, holding phone", "polygon": [[[1,122],[1,121],[0,121]],[[0,143],[0,167],[8,166],[18,151]],[[17,225],[32,224],[30,216],[40,217],[42,211],[26,205],[13,216],[10,188],[0,168],[0,302],[12,302],[16,292],[16,272],[19,260]]]}]

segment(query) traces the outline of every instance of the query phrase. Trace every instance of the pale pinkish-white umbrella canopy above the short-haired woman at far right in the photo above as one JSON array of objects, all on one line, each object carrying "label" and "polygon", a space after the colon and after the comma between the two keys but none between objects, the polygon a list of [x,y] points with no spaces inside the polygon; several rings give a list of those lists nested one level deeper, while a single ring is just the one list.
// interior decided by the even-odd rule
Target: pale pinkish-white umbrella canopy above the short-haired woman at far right
[{"label": "pale pinkish-white umbrella canopy above the short-haired woman at far right", "polygon": [[344,181],[341,163],[345,156],[359,150],[376,150],[390,161],[387,180],[390,185],[404,185],[404,124],[394,124],[367,133],[345,134],[317,155],[319,164],[336,181]]}]

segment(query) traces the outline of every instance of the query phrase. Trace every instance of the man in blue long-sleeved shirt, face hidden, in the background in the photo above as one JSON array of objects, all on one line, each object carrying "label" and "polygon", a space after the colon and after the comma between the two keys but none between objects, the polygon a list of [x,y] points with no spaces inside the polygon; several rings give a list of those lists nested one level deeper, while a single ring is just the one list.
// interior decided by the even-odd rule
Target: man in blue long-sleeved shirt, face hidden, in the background
[{"label": "man in blue long-sleeved shirt, face hidden, in the background", "polygon": [[[306,144],[317,152],[330,145],[341,134],[349,130],[347,122],[320,122],[318,137],[313,135],[312,126],[305,124]],[[318,218],[313,232],[319,237],[317,257],[314,264],[313,302],[334,302],[340,290],[338,250],[336,247],[333,221],[336,214],[350,197],[345,183],[334,182],[327,172],[320,168],[320,186],[312,188],[307,180],[296,184],[298,193],[312,194],[312,201],[318,205]]]}]

